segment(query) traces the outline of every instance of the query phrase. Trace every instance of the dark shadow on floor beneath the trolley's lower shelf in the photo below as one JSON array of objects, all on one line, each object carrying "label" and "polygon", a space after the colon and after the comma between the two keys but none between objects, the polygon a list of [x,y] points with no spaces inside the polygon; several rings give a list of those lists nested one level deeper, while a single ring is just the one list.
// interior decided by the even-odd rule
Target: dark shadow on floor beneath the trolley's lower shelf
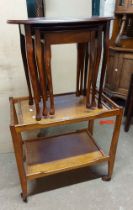
[{"label": "dark shadow on floor beneath the trolley's lower shelf", "polygon": [[63,172],[30,182],[29,194],[34,195],[62,187],[66,187],[80,182],[86,182],[98,179],[104,174],[103,170],[99,171],[97,167],[85,167],[68,172]]}]

